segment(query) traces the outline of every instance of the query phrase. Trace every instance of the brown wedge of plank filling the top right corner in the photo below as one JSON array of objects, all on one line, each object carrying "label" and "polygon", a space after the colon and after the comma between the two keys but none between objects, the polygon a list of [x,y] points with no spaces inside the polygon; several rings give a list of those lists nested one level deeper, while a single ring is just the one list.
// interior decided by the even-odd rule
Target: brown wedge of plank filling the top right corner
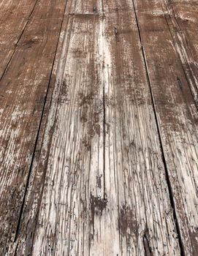
[{"label": "brown wedge of plank filling the top right corner", "polygon": [[163,10],[198,107],[197,1],[164,1]]}]

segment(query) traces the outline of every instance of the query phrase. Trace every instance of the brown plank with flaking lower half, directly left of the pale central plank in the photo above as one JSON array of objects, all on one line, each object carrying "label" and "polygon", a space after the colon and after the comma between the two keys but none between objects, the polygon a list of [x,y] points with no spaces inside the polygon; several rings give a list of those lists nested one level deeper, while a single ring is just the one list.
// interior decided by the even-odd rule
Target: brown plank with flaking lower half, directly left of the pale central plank
[{"label": "brown plank with flaking lower half, directly left of the pale central plank", "polygon": [[0,82],[0,255],[18,233],[65,1],[38,1]]}]

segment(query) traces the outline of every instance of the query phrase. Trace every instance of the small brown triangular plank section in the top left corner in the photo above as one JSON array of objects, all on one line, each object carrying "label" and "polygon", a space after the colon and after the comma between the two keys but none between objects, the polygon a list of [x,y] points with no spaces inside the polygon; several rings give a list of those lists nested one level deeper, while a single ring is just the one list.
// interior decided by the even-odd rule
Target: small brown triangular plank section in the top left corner
[{"label": "small brown triangular plank section in the top left corner", "polygon": [[18,40],[31,18],[37,0],[0,3],[0,79],[15,52]]}]

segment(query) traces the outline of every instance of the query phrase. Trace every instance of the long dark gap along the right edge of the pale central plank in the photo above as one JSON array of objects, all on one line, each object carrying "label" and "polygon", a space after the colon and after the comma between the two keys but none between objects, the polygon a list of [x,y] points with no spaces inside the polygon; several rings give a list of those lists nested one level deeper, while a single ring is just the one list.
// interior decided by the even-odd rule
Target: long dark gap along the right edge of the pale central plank
[{"label": "long dark gap along the right edge of the pale central plank", "polygon": [[[135,15],[136,23],[137,23],[137,31],[138,31],[139,38],[140,38],[140,44],[142,45],[142,37],[141,37],[141,34],[140,34],[140,25],[139,25],[138,18],[137,18],[137,10],[136,10],[135,5],[134,5],[134,0],[132,0],[132,4],[133,4],[133,7],[134,7],[134,15]],[[167,162],[166,162],[166,159],[165,159],[165,156],[164,156],[164,149],[163,149],[163,144],[162,144],[162,141],[161,141],[159,122],[158,122],[157,115],[156,115],[154,97],[153,97],[153,92],[152,92],[152,89],[151,89],[151,80],[150,80],[149,74],[148,74],[148,67],[147,67],[147,63],[146,63],[146,59],[145,59],[145,52],[144,52],[143,48],[141,48],[141,50],[142,50],[142,56],[143,56],[143,59],[144,59],[145,71],[146,71],[146,76],[147,76],[147,79],[148,79],[148,85],[149,85],[149,89],[150,89],[150,92],[151,92],[151,101],[152,101],[152,105],[153,105],[153,113],[154,113],[154,116],[155,116],[155,119],[156,119],[156,127],[157,127],[157,131],[158,131],[158,135],[159,135],[159,144],[160,144],[160,148],[161,148],[161,157],[162,157],[162,161],[163,161],[163,164],[164,164],[164,170],[165,170],[166,179],[167,179],[167,187],[168,187],[169,195],[170,195],[170,203],[171,203],[171,206],[172,206],[173,217],[175,219],[176,232],[178,233],[178,243],[179,243],[179,246],[180,246],[180,256],[185,256],[185,249],[184,249],[184,246],[183,246],[183,241],[182,241],[181,233],[180,233],[180,226],[179,226],[178,217],[177,217],[176,209],[175,209],[174,196],[173,196],[173,193],[172,193],[170,177],[169,177],[169,173],[168,173],[168,170],[167,170]]]}]

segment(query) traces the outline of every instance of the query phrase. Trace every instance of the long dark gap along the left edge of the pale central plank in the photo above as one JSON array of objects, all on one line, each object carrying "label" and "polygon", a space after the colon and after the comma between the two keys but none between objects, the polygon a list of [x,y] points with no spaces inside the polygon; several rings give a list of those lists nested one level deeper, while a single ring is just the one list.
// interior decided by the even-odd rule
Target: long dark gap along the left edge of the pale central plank
[{"label": "long dark gap along the left edge of the pale central plank", "polygon": [[[67,1],[66,1],[66,3],[67,3]],[[66,10],[66,4],[65,4],[65,7],[64,7],[64,15],[65,15],[65,10]],[[49,82],[48,82],[48,85],[47,85],[47,91],[46,91],[46,94],[45,94],[45,101],[44,101],[44,104],[43,104],[43,107],[42,107],[42,115],[41,115],[41,118],[40,118],[40,121],[39,121],[39,128],[38,128],[38,132],[37,132],[37,137],[36,137],[36,140],[35,140],[35,143],[34,143],[34,151],[33,151],[33,154],[32,154],[31,165],[29,167],[28,178],[27,178],[27,182],[26,182],[26,189],[25,189],[25,193],[24,193],[24,196],[23,196],[22,205],[21,205],[21,208],[20,208],[20,216],[19,216],[19,219],[18,219],[18,226],[17,226],[17,229],[16,229],[14,242],[18,238],[18,233],[19,233],[19,229],[20,229],[20,222],[21,222],[21,219],[22,219],[23,208],[25,206],[26,193],[28,191],[28,184],[29,184],[29,180],[30,180],[30,176],[31,176],[31,170],[32,170],[32,167],[33,167],[33,163],[34,163],[34,157],[35,157],[35,152],[36,152],[36,149],[37,149],[39,133],[40,133],[40,129],[41,129],[41,126],[42,126],[42,118],[43,118],[44,112],[45,112],[45,105],[46,105],[46,102],[47,102],[47,94],[48,94],[48,91],[50,89],[50,81],[51,81],[52,74],[53,74],[53,66],[54,66],[54,63],[55,63],[55,60],[56,60],[56,53],[57,53],[57,50],[58,50],[58,42],[59,42],[59,38],[61,36],[61,29],[62,29],[63,22],[64,22],[64,15],[63,15],[63,19],[61,21],[61,27],[60,27],[60,30],[59,30],[59,33],[58,33],[56,51],[55,51],[55,55],[54,55],[54,58],[53,58],[53,65],[52,65],[51,72],[50,72],[50,79],[49,79]]]}]

